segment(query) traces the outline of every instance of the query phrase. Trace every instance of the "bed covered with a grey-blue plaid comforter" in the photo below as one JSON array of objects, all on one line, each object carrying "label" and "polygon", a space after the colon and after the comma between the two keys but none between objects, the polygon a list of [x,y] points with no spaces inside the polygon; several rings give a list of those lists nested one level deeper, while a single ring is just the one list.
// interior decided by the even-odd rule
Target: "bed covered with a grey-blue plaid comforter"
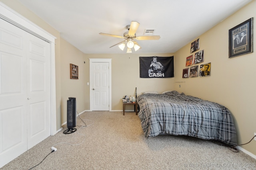
[{"label": "bed covered with a grey-blue plaid comforter", "polygon": [[141,94],[136,102],[145,137],[188,135],[237,145],[233,117],[218,103],[177,91]]}]

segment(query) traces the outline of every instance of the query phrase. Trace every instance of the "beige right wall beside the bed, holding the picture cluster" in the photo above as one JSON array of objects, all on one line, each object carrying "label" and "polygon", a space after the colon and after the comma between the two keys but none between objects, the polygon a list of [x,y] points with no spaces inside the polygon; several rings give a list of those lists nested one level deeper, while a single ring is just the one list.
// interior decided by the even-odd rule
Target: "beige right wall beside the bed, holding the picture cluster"
[{"label": "beige right wall beside the bed, holding the picture cluster", "polygon": [[[187,95],[197,96],[228,107],[234,117],[238,144],[247,143],[256,132],[256,52],[229,59],[228,30],[249,18],[255,18],[255,9],[256,1],[254,0],[195,38],[200,39],[200,50],[204,50],[203,63],[211,63],[209,77],[182,78],[182,69],[186,68],[186,57],[191,55],[190,44],[175,53],[175,81],[184,82],[186,86],[184,93]],[[255,28],[255,22],[253,25]],[[255,33],[253,39],[256,39]],[[254,49],[256,49],[255,44]],[[256,155],[255,146],[256,141],[252,141],[241,147]]]}]

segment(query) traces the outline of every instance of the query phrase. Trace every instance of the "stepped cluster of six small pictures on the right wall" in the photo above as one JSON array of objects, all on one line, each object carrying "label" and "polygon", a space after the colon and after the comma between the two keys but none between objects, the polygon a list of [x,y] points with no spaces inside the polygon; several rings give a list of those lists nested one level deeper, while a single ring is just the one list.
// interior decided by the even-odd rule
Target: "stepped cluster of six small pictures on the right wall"
[{"label": "stepped cluster of six small pictures on the right wall", "polygon": [[183,69],[182,78],[210,76],[211,63],[194,65],[204,62],[204,50],[198,50],[199,39],[191,43],[190,53],[195,53],[186,58],[186,67],[190,66],[190,68]]}]

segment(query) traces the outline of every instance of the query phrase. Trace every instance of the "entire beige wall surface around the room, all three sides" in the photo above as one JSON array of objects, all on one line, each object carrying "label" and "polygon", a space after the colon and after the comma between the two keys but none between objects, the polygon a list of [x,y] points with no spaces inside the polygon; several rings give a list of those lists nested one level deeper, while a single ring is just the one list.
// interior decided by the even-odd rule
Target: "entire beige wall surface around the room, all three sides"
[{"label": "entire beige wall surface around the room, all three sides", "polygon": [[[68,97],[77,98],[79,113],[90,109],[89,86],[86,85],[86,82],[89,82],[89,58],[110,58],[112,59],[112,110],[122,110],[121,98],[124,95],[135,95],[135,87],[137,87],[138,94],[146,90],[163,92],[175,89],[228,107],[234,116],[239,144],[248,142],[256,132],[256,109],[254,107],[256,79],[253,70],[254,63],[256,63],[255,52],[228,59],[228,29],[255,17],[255,1],[203,35],[195,37],[195,39],[200,38],[200,50],[204,49],[203,63],[212,64],[211,76],[186,79],[182,78],[182,69],[186,68],[186,57],[190,56],[190,44],[182,47],[175,54],[83,54],[61,39],[58,31],[18,1],[0,1],[57,37],[55,58],[57,129],[61,127],[61,123],[66,121]],[[173,55],[174,78],[139,78],[140,56],[168,57]],[[69,78],[70,63],[79,66],[78,80]],[[255,144],[256,141],[252,141],[241,147],[256,155]]]}]

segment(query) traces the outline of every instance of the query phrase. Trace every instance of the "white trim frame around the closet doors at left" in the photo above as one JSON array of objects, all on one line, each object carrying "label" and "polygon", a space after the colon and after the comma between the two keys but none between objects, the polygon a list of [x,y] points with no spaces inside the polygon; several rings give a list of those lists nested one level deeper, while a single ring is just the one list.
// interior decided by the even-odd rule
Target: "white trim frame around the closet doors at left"
[{"label": "white trim frame around the closet doors at left", "polygon": [[0,18],[50,43],[50,117],[51,135],[57,133],[56,122],[56,80],[55,80],[55,39],[53,35],[38,27],[18,12],[0,2]]}]

